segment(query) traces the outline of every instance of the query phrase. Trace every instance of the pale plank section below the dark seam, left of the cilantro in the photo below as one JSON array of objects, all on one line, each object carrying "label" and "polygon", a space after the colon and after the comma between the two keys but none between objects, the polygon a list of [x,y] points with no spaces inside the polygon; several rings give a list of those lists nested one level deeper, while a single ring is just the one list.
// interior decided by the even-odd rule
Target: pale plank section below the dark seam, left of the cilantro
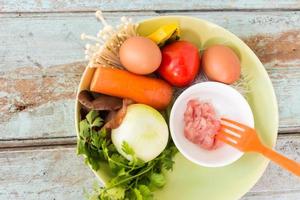
[{"label": "pale plank section below the dark seam, left of the cilantro", "polygon": [[74,147],[1,152],[0,162],[0,199],[79,200],[96,180]]}]

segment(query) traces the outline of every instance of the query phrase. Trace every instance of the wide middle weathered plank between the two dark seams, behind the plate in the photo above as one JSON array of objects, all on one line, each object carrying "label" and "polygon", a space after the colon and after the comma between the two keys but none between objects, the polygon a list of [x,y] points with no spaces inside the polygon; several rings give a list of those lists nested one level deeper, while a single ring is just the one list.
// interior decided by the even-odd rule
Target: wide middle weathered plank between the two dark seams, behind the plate
[{"label": "wide middle weathered plank between the two dark seams, behind the plate", "polygon": [[[300,12],[172,14],[208,19],[240,36],[272,79],[280,132],[300,130]],[[158,14],[106,14],[113,24],[123,15],[138,21]],[[97,32],[94,14],[2,14],[0,24],[1,139],[75,136],[74,97],[85,67],[79,35]]]}]

